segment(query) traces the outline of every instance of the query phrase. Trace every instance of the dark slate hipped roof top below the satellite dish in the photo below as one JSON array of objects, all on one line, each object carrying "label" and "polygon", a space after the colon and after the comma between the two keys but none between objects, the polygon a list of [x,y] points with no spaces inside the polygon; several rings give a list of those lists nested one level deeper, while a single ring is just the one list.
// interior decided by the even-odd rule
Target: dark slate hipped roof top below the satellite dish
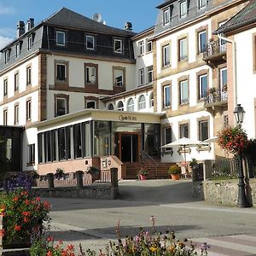
[{"label": "dark slate hipped roof top below the satellite dish", "polygon": [[136,33],[134,32],[129,32],[112,26],[107,26],[100,22],[97,22],[96,20],[91,20],[67,8],[60,9],[54,15],[51,15],[47,20],[45,20],[44,23],[54,26],[78,28],[91,32],[109,33],[123,37],[129,35],[136,35]]}]

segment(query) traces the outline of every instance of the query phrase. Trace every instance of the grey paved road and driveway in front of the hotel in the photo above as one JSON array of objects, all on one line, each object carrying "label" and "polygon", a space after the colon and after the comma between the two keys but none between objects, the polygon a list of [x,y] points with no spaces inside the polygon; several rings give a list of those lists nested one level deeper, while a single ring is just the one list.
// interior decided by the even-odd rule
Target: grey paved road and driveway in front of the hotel
[{"label": "grey paved road and driveway in front of the hotel", "polygon": [[99,248],[115,240],[118,219],[122,236],[136,235],[140,226],[152,229],[154,215],[159,231],[175,230],[198,247],[208,241],[209,255],[256,255],[256,209],[207,205],[191,196],[191,186],[190,181],[123,181],[119,200],[48,199],[53,205],[52,235]]}]

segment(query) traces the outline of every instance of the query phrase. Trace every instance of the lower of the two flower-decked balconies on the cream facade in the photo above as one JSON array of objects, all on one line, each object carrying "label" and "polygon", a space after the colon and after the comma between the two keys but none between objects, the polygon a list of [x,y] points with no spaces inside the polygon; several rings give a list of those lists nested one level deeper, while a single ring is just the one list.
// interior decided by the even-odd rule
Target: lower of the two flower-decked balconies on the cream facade
[{"label": "lower of the two flower-decked balconies on the cream facade", "polygon": [[228,105],[228,91],[211,88],[205,97],[205,108],[223,107]]}]

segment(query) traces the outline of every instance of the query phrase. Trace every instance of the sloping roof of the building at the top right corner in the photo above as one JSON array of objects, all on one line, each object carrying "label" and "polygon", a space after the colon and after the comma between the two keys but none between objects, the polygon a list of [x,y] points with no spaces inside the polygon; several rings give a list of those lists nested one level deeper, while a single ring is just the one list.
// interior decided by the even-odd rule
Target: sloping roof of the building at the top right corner
[{"label": "sloping roof of the building at the top right corner", "polygon": [[214,34],[231,32],[254,22],[256,22],[256,0],[251,0],[245,8],[241,9],[238,14],[219,27]]}]

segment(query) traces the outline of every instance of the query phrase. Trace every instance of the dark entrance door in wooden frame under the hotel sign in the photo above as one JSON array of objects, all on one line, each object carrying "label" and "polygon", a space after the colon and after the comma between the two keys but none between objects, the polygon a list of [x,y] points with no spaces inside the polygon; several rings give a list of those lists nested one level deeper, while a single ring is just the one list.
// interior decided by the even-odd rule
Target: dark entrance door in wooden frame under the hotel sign
[{"label": "dark entrance door in wooden frame under the hotel sign", "polygon": [[119,134],[119,159],[122,162],[137,162],[139,153],[139,134]]}]

